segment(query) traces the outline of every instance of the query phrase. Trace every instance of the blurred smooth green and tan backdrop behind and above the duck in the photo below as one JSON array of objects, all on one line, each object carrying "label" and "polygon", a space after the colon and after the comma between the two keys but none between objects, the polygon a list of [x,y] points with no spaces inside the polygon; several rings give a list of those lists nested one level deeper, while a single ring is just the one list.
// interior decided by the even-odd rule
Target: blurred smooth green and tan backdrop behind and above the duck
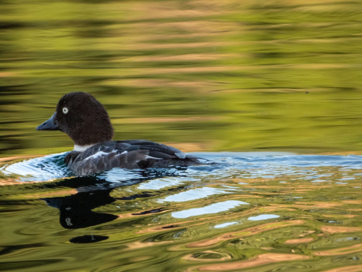
[{"label": "blurred smooth green and tan backdrop behind and above the duck", "polygon": [[36,132],[70,91],[116,140],[184,151],[362,150],[361,1],[0,1],[0,156],[73,146]]}]

